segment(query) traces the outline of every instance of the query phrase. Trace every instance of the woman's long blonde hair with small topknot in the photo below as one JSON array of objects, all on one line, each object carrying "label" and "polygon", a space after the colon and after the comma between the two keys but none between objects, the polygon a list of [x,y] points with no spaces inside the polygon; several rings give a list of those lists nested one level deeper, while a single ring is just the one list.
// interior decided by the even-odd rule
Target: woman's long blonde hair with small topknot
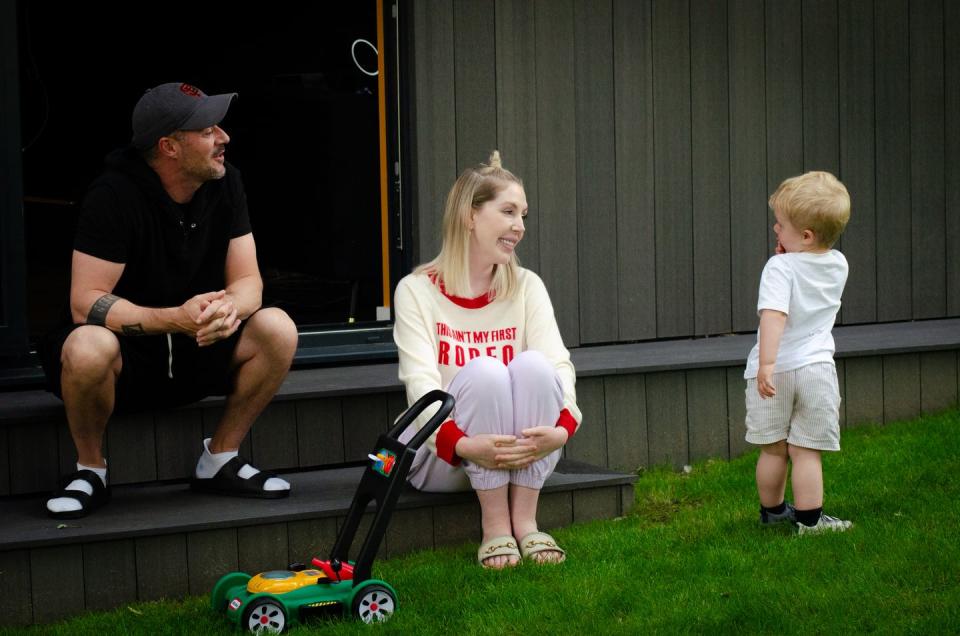
[{"label": "woman's long blonde hair with small topknot", "polygon": [[[417,267],[414,273],[436,276],[444,291],[452,296],[470,295],[470,221],[475,210],[491,201],[509,184],[521,188],[523,181],[503,167],[500,152],[494,150],[488,164],[467,168],[447,194],[443,208],[443,245],[432,261]],[[505,265],[494,265],[488,298],[510,298],[519,287],[515,254]]]}]

